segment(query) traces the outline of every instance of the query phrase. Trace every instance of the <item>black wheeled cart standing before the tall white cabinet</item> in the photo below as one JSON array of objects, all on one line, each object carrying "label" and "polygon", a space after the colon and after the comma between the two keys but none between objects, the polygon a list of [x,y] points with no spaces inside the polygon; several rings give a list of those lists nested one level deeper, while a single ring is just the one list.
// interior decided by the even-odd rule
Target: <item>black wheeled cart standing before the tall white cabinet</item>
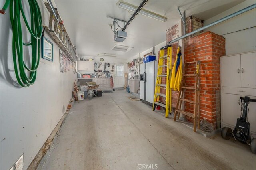
[{"label": "black wheeled cart standing before the tall white cabinet", "polygon": [[[233,132],[229,127],[223,127],[221,130],[222,138],[229,140],[231,136],[234,136],[235,140],[248,144],[251,146],[252,153],[256,154],[256,138],[251,139],[250,123],[247,121],[249,114],[249,102],[256,102],[256,99],[250,99],[250,97],[240,97],[242,103],[241,117],[236,120],[236,127]],[[255,126],[255,125],[254,125]]]}]

